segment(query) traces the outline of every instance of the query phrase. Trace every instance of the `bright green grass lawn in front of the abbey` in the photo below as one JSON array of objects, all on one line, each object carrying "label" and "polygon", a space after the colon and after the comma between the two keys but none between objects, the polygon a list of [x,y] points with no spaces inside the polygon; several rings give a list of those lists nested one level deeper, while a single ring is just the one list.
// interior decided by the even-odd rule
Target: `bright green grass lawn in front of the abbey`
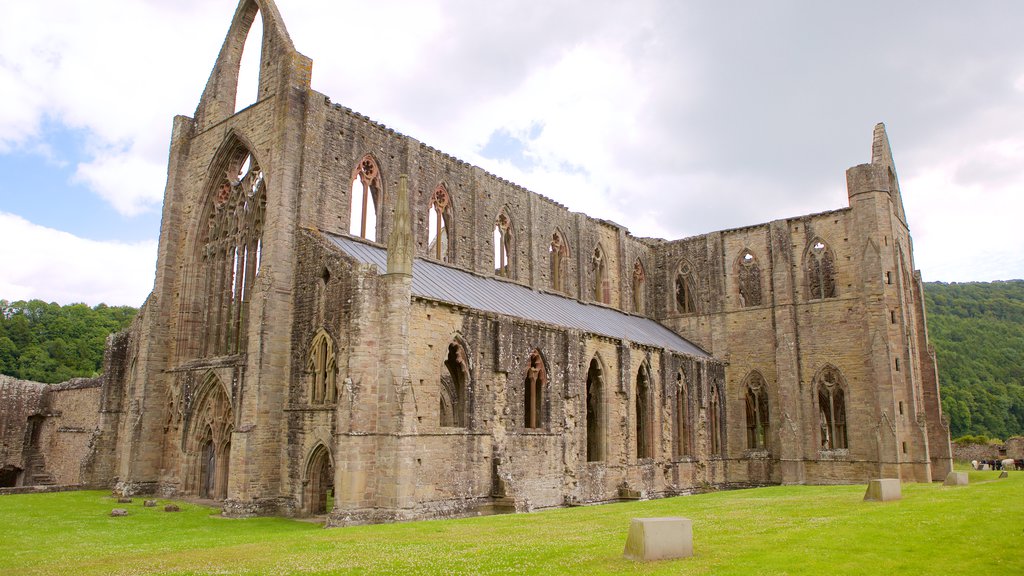
[{"label": "bright green grass lawn in front of the abbey", "polygon": [[[1024,472],[997,477],[904,484],[886,503],[785,486],[330,530],[104,492],[0,496],[0,574],[1024,574]],[[693,521],[695,556],[624,560],[630,519],[657,516]]]}]

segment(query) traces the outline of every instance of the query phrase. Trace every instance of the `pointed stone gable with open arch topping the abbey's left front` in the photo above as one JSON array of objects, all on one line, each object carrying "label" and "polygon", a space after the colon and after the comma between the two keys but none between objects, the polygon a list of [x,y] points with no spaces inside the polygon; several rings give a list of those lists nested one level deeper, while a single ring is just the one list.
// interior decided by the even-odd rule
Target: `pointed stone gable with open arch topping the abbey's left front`
[{"label": "pointed stone gable with open arch topping the abbey's left front", "polygon": [[[273,0],[242,0],[234,11],[231,24],[220,48],[213,72],[196,109],[198,131],[231,116],[239,87],[239,69],[242,65],[243,48],[255,22],[260,14],[263,38],[260,42],[260,78],[257,99],[271,94],[276,87],[276,78],[282,67],[291,64],[289,55],[298,55],[295,45],[288,35],[281,13]],[[308,59],[308,58],[305,58]]]}]

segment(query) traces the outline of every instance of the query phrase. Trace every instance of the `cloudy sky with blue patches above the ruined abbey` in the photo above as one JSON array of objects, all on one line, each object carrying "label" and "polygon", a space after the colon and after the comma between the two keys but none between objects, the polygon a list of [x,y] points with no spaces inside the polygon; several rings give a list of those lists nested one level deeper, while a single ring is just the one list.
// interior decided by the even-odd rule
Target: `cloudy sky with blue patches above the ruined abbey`
[{"label": "cloudy sky with blue patches above the ruined abbey", "polygon": [[[1024,3],[278,3],[333,101],[637,236],[846,206],[885,122],[925,280],[1024,277]],[[236,5],[0,0],[0,298],[142,302]]]}]

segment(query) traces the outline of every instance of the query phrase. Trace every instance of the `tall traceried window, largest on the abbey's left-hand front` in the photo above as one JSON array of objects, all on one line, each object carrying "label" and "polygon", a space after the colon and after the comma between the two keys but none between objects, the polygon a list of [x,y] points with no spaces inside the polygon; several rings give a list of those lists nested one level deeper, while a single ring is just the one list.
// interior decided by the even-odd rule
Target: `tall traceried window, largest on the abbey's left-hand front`
[{"label": "tall traceried window, largest on the abbey's left-hand front", "polygon": [[249,301],[262,255],[266,186],[249,150],[237,143],[206,207],[200,257],[206,280],[205,354],[245,351]]}]

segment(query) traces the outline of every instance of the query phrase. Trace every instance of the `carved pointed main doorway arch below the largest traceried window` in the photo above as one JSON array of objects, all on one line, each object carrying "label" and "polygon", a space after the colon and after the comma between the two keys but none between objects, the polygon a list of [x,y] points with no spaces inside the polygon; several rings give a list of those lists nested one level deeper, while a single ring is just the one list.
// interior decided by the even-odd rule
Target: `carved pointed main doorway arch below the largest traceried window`
[{"label": "carved pointed main doorway arch below the largest traceried window", "polygon": [[230,390],[209,372],[190,403],[182,437],[186,494],[215,500],[227,497],[233,430]]}]

